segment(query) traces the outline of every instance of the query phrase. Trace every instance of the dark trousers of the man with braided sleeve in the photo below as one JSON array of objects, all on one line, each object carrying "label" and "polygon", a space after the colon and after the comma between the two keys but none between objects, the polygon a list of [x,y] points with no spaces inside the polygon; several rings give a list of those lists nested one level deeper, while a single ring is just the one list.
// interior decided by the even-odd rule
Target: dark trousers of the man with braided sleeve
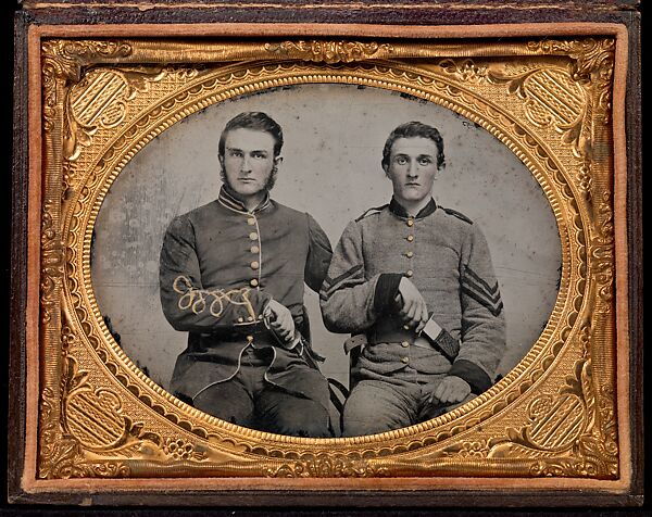
[{"label": "dark trousers of the man with braided sleeve", "polygon": [[326,407],[272,384],[265,379],[266,370],[267,364],[261,364],[255,351],[247,349],[236,376],[203,390],[192,405],[250,429],[294,437],[331,437]]}]

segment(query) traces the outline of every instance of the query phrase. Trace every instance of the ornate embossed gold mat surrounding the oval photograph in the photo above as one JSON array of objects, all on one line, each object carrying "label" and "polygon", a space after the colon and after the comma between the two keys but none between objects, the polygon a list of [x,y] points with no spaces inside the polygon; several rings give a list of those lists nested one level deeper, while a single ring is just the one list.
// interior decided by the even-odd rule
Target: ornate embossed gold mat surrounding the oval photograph
[{"label": "ornate embossed gold mat surrounding the oval photograph", "polygon": [[[617,479],[613,70],[611,38],[45,40],[38,478]],[[125,355],[92,290],[93,224],[138,150],[211,104],[310,83],[390,89],[481,125],[530,169],[560,229],[560,293],[530,352],[462,408],[381,436],[294,439],[202,414]]]}]

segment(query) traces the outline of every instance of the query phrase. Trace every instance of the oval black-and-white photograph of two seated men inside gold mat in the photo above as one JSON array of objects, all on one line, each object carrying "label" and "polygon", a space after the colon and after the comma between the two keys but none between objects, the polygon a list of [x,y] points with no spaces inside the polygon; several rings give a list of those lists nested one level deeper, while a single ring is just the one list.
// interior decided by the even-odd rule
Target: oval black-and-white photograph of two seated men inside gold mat
[{"label": "oval black-and-white photograph of two seated men inside gold mat", "polygon": [[525,164],[434,102],[299,85],[215,103],[124,167],[91,247],[106,328],[201,412],[358,437],[463,405],[557,297],[560,235]]}]

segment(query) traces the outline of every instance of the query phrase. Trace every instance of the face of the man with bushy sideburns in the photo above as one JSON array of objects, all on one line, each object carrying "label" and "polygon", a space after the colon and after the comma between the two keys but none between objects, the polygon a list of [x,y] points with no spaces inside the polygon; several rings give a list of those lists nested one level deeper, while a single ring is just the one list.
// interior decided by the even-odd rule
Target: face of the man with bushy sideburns
[{"label": "face of the man with bushy sideburns", "polygon": [[228,131],[222,166],[226,182],[243,201],[265,190],[275,165],[274,137],[266,131],[239,128]]}]

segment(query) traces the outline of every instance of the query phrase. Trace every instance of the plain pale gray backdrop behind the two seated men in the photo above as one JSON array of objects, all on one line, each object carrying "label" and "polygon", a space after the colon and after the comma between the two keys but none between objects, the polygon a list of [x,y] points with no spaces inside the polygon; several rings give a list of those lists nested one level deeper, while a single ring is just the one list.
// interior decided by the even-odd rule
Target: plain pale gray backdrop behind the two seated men
[{"label": "plain pale gray backdrop behind the two seated men", "polygon": [[[96,223],[92,285],[103,316],[125,353],[167,389],[187,336],[163,317],[159,254],[168,223],[220,191],[217,140],[243,111],[263,111],[284,129],[284,162],[272,198],[309,212],[335,248],[346,224],[389,202],[380,167],[389,133],[409,121],[439,128],[446,169],[435,182],[438,204],[479,225],[489,242],[507,321],[505,375],[544,327],[557,294],[561,249],[552,210],[527,167],[484,128],[435,103],[393,91],[303,85],[214,104],[175,124],[122,171]],[[348,382],[347,336],[328,332],[318,297],[306,288],[314,346],[323,371]]]}]

